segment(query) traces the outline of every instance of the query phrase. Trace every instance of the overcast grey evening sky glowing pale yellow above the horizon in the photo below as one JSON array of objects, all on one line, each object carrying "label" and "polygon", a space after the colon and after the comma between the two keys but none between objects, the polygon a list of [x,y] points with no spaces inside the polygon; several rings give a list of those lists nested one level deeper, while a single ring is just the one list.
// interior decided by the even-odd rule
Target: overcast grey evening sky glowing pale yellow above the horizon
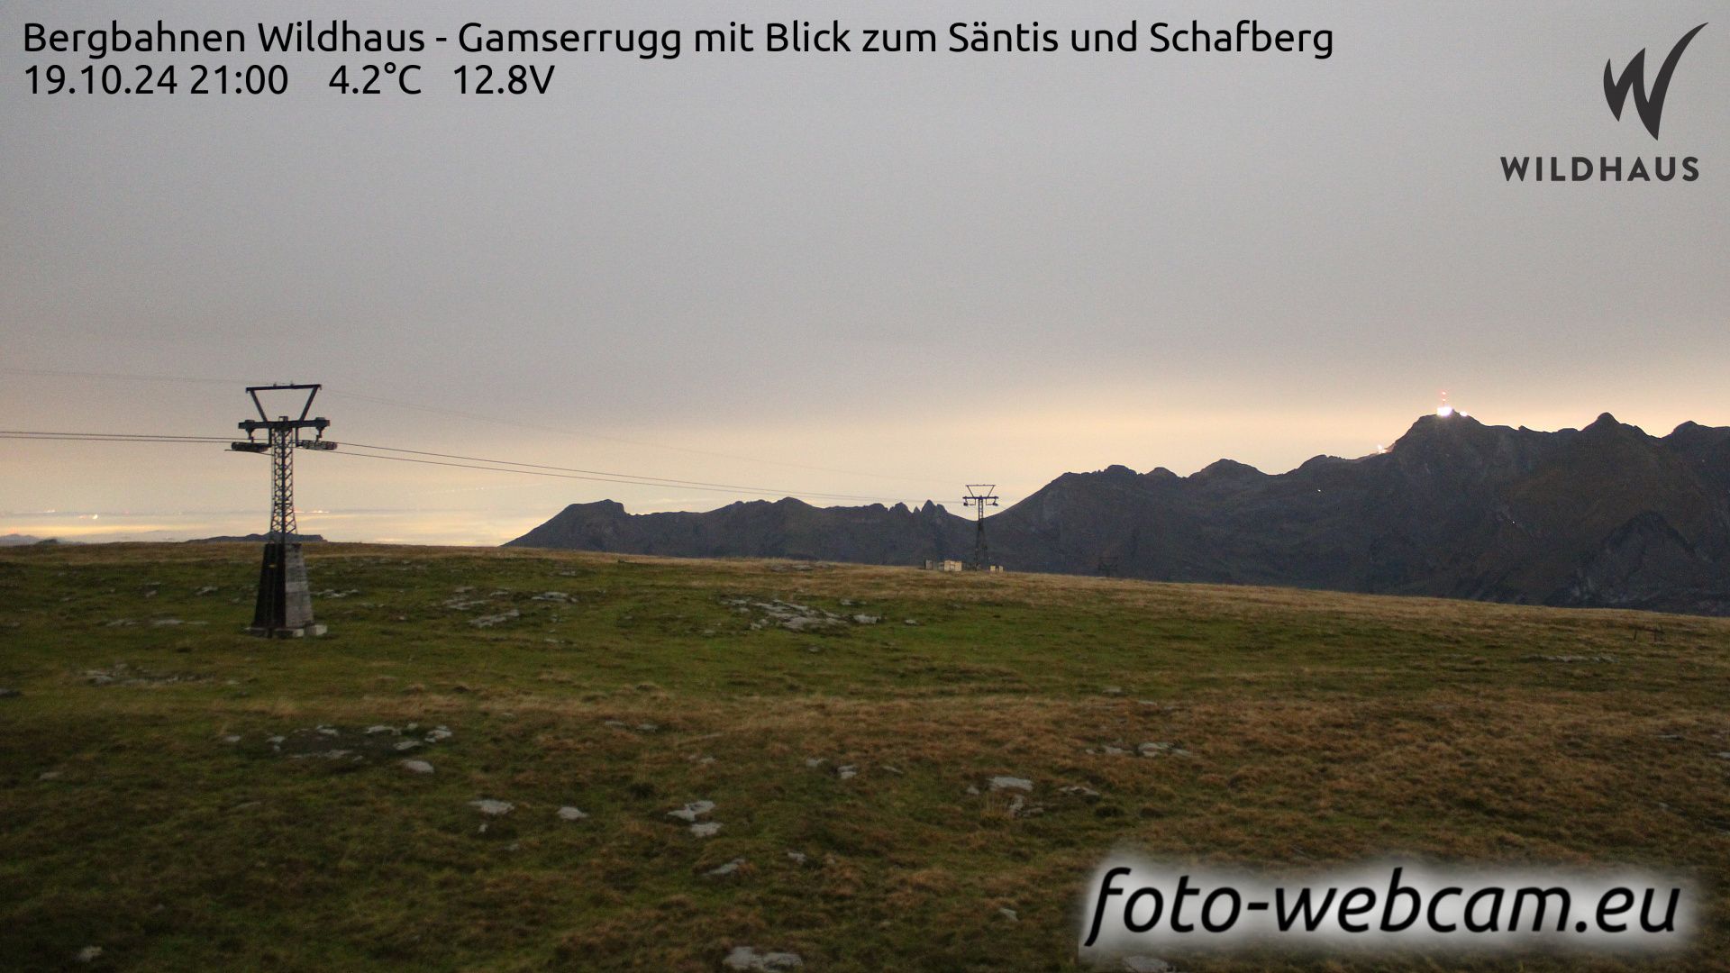
[{"label": "overcast grey evening sky glowing pale yellow above the horizon", "polygon": [[[678,59],[24,54],[24,24],[348,17],[452,35],[680,28]],[[1308,54],[694,54],[789,17],[1138,19],[1334,33]],[[1604,62],[1709,23],[1654,140]],[[858,35],[855,35],[858,36]],[[256,40],[249,36],[249,40]],[[946,40],[946,36],[945,36]],[[213,61],[215,57],[215,61]],[[29,64],[280,62],[285,95],[33,95]],[[408,59],[403,57],[403,62]],[[554,64],[547,95],[460,64]],[[182,68],[185,71],[185,68]],[[301,454],[334,540],[498,544],[566,504],[1005,502],[1064,471],[1284,471],[1436,409],[1555,429],[1730,424],[1730,7],[1650,3],[374,2],[0,5],[0,428],[227,436],[324,383]],[[1500,158],[1695,156],[1690,184],[1509,184]],[[746,486],[749,490],[732,490]],[[0,535],[266,526],[220,443],[0,440]],[[817,499],[815,502],[834,502]]]}]

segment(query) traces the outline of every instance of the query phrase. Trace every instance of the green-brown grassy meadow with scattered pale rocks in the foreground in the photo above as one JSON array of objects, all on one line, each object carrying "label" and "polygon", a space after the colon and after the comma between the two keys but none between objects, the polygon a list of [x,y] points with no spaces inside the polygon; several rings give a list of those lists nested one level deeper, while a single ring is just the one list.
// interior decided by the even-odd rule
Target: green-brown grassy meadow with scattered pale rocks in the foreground
[{"label": "green-brown grassy meadow with scattered pale rocks in the foreground", "polygon": [[[0,699],[0,966],[97,945],[88,968],[714,970],[753,945],[808,970],[1067,970],[1083,883],[1128,847],[1692,874],[1697,947],[1650,968],[1727,968],[1725,620],[531,551],[308,563],[356,594],[317,599],[324,639],[260,641],[256,547],[0,552],[0,686],[22,691]],[[734,597],[882,622],[753,628]],[[453,732],[408,755],[431,776],[268,743],[330,725],[365,750],[410,722]],[[1142,741],[1192,757],[1104,751]],[[969,793],[995,774],[1033,779],[1043,814]],[[476,798],[516,810],[483,833]],[[666,815],[699,798],[714,838]]]}]

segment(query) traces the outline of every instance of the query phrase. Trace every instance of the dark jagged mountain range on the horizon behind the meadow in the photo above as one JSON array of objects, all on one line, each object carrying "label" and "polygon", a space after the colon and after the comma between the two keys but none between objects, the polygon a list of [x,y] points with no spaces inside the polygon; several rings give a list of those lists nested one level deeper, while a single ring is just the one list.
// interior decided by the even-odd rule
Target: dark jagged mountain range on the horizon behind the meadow
[{"label": "dark jagged mountain range on the horizon behind the meadow", "polygon": [[[1387,452],[1265,474],[1066,473],[986,521],[1012,571],[1292,585],[1730,615],[1730,428],[1656,438],[1604,414],[1540,433],[1426,416]],[[510,542],[694,557],[920,564],[967,557],[972,521],[799,500],[628,514],[573,504]]]}]

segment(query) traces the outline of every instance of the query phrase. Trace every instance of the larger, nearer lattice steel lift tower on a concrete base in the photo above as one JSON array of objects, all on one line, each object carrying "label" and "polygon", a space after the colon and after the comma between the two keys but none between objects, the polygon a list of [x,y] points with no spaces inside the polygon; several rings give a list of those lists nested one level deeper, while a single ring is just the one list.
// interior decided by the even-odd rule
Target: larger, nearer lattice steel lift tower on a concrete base
[{"label": "larger, nearer lattice steel lift tower on a concrete base", "polygon": [[[246,441],[228,443],[235,452],[270,454],[270,533],[265,535],[265,563],[258,573],[258,604],[253,608],[253,625],[247,634],[273,639],[324,635],[325,627],[313,622],[313,594],[306,583],[306,557],[301,554],[299,528],[294,523],[294,450],[334,450],[336,443],[324,440],[329,419],[308,419],[313,410],[317,384],[260,384],[249,386],[258,419],[242,419]],[[258,398],[261,391],[304,391],[298,419],[265,412]],[[301,431],[311,429],[313,438],[303,440]],[[265,433],[266,441],[254,436]]]}]

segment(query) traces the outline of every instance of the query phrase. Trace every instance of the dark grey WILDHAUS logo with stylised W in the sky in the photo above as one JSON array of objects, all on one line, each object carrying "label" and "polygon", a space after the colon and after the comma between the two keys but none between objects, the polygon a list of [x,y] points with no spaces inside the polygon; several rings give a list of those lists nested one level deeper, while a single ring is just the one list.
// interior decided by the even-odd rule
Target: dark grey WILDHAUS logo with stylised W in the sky
[{"label": "dark grey WILDHAUS logo with stylised W in the sky", "polygon": [[[1616,76],[1616,62],[1605,61],[1604,100],[1611,106],[1611,116],[1621,121],[1623,107],[1626,107],[1628,97],[1633,95],[1633,109],[1656,140],[1659,123],[1664,119],[1664,99],[1669,95],[1669,80],[1676,73],[1676,62],[1682,61],[1682,52],[1688,48],[1694,35],[1704,28],[1706,24],[1701,24],[1682,35],[1682,40],[1664,57],[1664,64],[1657,69],[1657,78],[1652,80],[1650,88],[1645,83],[1645,48],[1640,48],[1628,61],[1619,78]],[[1635,156],[1633,159],[1623,156],[1569,156],[1566,163],[1562,156],[1502,156],[1502,177],[1507,182],[1671,182],[1678,173],[1682,182],[1701,178],[1701,159],[1695,156],[1683,156],[1680,159],[1676,156],[1652,156],[1649,164],[1642,156]]]}]

